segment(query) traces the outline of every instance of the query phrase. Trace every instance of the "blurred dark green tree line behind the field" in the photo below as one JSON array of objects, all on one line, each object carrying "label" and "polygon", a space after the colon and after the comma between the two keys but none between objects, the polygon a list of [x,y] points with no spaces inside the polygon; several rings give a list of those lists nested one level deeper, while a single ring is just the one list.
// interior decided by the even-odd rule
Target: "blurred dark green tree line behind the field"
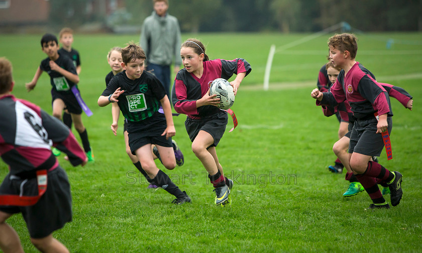
[{"label": "blurred dark green tree line behind the field", "polygon": [[[105,17],[105,9],[87,15],[84,0],[55,0],[50,21],[140,27],[153,10],[152,0],[125,5]],[[170,0],[169,14],[182,32],[315,32],[340,22],[365,31],[422,31],[422,0]]]}]

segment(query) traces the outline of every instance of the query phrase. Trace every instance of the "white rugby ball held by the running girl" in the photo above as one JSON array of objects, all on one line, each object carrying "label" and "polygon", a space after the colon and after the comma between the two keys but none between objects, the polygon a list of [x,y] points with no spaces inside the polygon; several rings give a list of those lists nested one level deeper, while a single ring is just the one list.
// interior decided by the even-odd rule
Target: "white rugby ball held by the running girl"
[{"label": "white rugby ball held by the running girl", "polygon": [[226,79],[217,78],[209,85],[209,95],[214,94],[217,95],[217,98],[220,98],[218,105],[220,109],[229,109],[235,102],[233,87]]}]

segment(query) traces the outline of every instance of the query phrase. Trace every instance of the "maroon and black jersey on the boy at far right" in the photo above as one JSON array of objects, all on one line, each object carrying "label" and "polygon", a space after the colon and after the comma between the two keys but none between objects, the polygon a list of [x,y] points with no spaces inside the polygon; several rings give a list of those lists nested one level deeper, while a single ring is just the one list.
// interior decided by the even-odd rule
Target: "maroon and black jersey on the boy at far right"
[{"label": "maroon and black jersey on the boy at far right", "polygon": [[345,100],[349,102],[357,119],[374,117],[375,112],[378,115],[393,115],[387,91],[359,62],[353,65],[346,76],[342,69],[331,90],[324,92],[322,101],[316,100],[316,105],[335,106]]}]

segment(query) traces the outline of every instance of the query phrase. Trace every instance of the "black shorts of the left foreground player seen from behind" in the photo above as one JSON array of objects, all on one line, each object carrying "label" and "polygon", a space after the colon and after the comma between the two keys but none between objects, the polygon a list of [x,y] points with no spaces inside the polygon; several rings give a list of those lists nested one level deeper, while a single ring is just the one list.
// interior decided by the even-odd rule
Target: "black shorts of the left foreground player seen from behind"
[{"label": "black shorts of the left foreground player seen from behind", "polygon": [[[25,179],[10,179],[8,174],[0,186],[1,194],[20,194]],[[23,184],[23,195],[38,195],[37,178]],[[58,166],[47,174],[47,190],[32,206],[0,206],[0,211],[22,212],[32,238],[44,238],[72,221],[72,197],[66,172]]]}]

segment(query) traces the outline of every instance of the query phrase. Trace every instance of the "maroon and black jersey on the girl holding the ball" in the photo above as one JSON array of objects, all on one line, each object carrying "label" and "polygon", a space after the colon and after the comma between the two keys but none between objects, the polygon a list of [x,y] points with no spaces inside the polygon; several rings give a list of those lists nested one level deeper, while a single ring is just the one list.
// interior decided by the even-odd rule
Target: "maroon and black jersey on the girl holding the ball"
[{"label": "maroon and black jersey on the girl holding the ball", "polygon": [[203,74],[197,78],[186,69],[181,69],[174,79],[172,102],[178,113],[183,113],[191,118],[201,118],[217,114],[220,108],[213,105],[204,105],[196,108],[196,100],[200,99],[209,89],[209,85],[217,78],[228,80],[233,74],[251,71],[251,65],[242,58],[231,61],[216,59],[204,61]]}]

